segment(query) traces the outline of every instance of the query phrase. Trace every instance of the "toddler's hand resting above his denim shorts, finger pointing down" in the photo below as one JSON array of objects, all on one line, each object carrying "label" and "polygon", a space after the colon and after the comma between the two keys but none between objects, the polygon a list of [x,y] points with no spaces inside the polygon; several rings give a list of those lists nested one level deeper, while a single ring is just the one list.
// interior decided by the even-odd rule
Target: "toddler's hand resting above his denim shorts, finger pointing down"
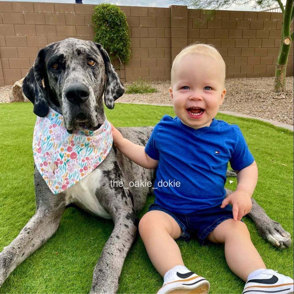
[{"label": "toddler's hand resting above his denim shorts, finger pointing down", "polygon": [[241,220],[242,217],[251,210],[251,195],[244,191],[236,190],[223,200],[220,208],[224,208],[229,203],[231,203],[233,207],[234,220]]}]

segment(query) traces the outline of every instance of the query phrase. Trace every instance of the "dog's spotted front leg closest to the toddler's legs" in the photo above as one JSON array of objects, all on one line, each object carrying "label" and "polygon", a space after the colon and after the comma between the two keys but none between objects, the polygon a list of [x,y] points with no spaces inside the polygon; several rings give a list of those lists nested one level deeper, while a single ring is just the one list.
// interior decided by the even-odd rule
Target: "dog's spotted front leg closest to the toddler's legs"
[{"label": "dog's spotted front leg closest to the toddler's legs", "polygon": [[114,208],[114,229],[95,266],[90,293],[116,293],[118,290],[123,263],[138,226],[138,217],[130,208],[132,206]]}]

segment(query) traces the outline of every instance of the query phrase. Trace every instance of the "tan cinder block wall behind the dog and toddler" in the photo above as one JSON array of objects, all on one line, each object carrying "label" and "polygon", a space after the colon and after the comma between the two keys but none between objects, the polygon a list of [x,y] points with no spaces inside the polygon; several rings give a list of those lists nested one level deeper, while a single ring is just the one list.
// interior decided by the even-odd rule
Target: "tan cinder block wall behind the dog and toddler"
[{"label": "tan cinder block wall behind the dog and toddler", "polygon": [[[141,77],[169,80],[171,63],[188,44],[213,44],[227,65],[227,78],[274,76],[281,42],[281,13],[119,6],[126,14],[132,58],[113,64],[123,82]],[[92,40],[94,5],[0,2],[0,86],[26,75],[38,51],[68,37]],[[293,28],[293,23],[292,23]],[[293,75],[293,43],[287,75]]]}]

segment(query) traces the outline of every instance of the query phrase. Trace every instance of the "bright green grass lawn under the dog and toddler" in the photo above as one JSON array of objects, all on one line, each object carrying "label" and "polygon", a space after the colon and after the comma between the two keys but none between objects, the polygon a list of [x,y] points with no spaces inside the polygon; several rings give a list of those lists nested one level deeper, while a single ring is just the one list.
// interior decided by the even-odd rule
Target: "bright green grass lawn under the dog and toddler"
[{"label": "bright green grass lawn under the dog and toddler", "polygon": [[[0,251],[35,212],[32,133],[36,116],[31,103],[0,104]],[[171,107],[116,104],[106,109],[115,126],[154,126]],[[270,218],[293,236],[293,132],[248,118],[218,114],[241,128],[258,164],[254,198]],[[235,189],[236,179],[226,187]],[[153,202],[149,195],[139,217]],[[251,238],[268,268],[293,277],[293,245],[278,250],[264,241],[248,217]],[[92,272],[113,223],[69,207],[56,234],[10,274],[0,293],[88,293]],[[224,248],[196,240],[178,242],[186,266],[209,280],[210,293],[241,293],[244,283],[227,267]],[[153,268],[141,238],[136,238],[120,277],[119,293],[155,293],[162,278]]]}]

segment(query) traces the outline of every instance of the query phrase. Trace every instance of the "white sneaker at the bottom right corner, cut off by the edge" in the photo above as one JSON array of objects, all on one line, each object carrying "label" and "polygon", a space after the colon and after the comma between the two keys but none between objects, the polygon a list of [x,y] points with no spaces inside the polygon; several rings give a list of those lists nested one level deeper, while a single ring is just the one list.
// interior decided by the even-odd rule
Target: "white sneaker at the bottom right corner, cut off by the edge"
[{"label": "white sneaker at the bottom right corner, cut off by the edge", "polygon": [[293,279],[267,269],[246,282],[244,293],[293,293]]}]

